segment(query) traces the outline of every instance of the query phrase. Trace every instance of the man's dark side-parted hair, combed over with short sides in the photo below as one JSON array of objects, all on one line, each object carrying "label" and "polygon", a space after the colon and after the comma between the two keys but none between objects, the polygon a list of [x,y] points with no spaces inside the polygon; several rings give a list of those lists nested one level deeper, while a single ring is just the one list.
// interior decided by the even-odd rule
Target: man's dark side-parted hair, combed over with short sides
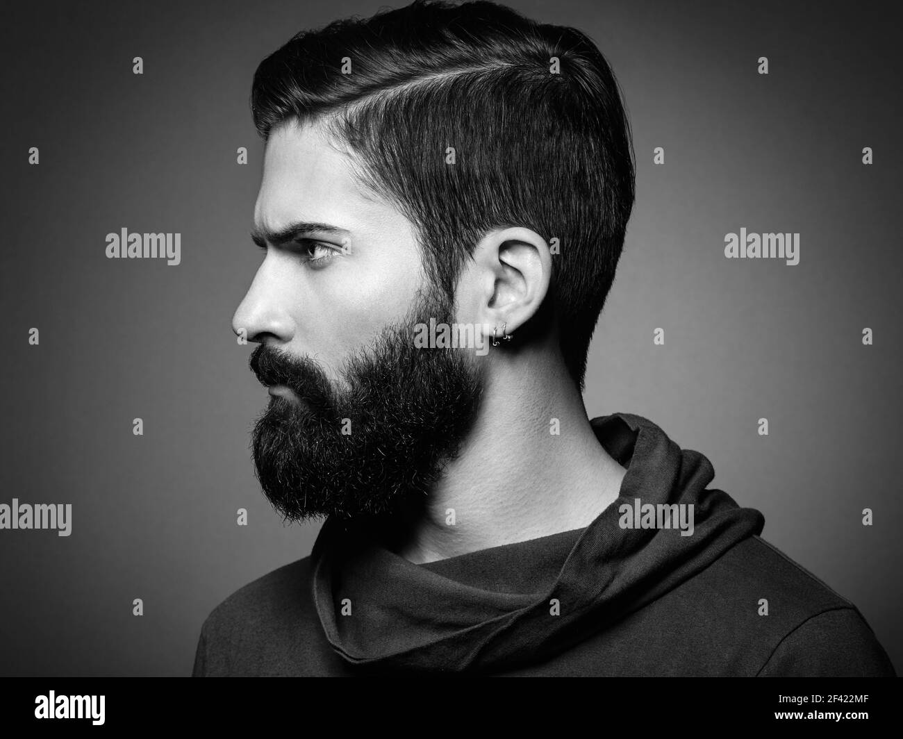
[{"label": "man's dark side-parted hair, combed over with short sides", "polygon": [[415,0],[298,33],[257,67],[251,109],[264,139],[326,119],[361,182],[418,229],[426,273],[450,298],[490,229],[559,239],[551,310],[583,387],[635,188],[619,85],[585,34],[485,0]]}]

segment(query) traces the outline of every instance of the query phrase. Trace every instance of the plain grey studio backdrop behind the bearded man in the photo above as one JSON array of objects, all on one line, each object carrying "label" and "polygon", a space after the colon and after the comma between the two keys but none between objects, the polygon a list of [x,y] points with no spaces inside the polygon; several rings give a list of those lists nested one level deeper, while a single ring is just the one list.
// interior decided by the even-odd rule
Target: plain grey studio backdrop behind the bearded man
[{"label": "plain grey studio backdrop behind the bearded man", "polygon": [[[856,603],[900,669],[891,5],[511,5],[591,35],[635,136],[638,200],[592,344],[591,415],[646,416],[706,454],[712,486],[761,510],[763,536]],[[261,260],[247,98],[295,31],[378,7],[5,7],[0,502],[70,502],[73,523],[69,538],[0,531],[0,672],[187,675],[209,611],[310,552],[319,525],[284,527],[253,476],[266,396],[229,327]],[[725,259],[741,226],[800,232],[800,264]],[[181,232],[182,264],[107,259],[123,227]]]}]

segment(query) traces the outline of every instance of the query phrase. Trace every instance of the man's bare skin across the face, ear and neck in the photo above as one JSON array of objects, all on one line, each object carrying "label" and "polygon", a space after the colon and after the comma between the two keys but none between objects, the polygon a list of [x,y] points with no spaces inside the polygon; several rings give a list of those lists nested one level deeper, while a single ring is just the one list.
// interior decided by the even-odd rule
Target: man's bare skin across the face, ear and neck
[{"label": "man's bare skin across the face, ear and neck", "polygon": [[[344,233],[315,234],[316,247],[268,245],[233,317],[235,332],[310,357],[336,383],[343,361],[400,321],[429,287],[413,224],[358,186],[349,156],[319,123],[271,134],[256,227],[306,220]],[[517,341],[545,300],[553,258],[531,229],[496,229],[462,270],[455,321],[479,332],[488,326],[487,340],[492,326],[507,323],[514,340],[490,346],[486,356],[473,353],[484,392],[460,454],[423,504],[400,510],[383,532],[386,546],[412,562],[580,529],[618,497],[626,471],[593,435],[554,327]],[[560,435],[549,433],[553,418]]]}]

